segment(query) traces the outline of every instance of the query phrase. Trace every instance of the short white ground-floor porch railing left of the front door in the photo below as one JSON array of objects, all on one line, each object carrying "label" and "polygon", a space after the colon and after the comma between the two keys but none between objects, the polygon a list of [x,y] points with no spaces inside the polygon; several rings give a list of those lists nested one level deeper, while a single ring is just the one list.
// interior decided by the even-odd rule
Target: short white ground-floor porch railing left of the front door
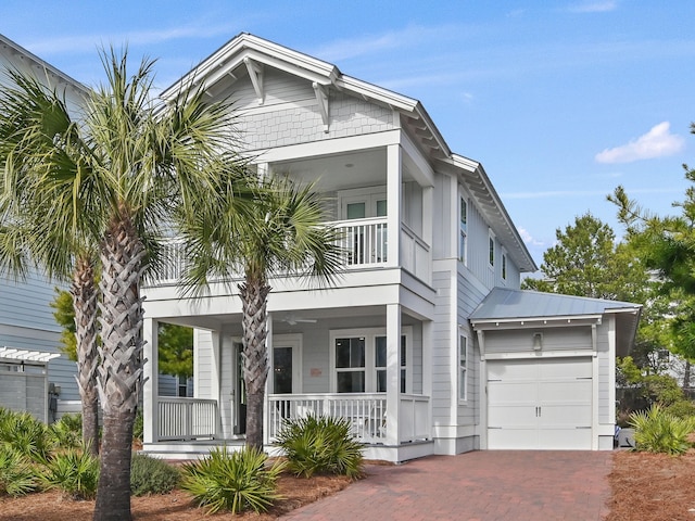
[{"label": "short white ground-floor porch railing left of the front door", "polygon": [[217,437],[219,412],[216,399],[160,396],[159,441]]}]

